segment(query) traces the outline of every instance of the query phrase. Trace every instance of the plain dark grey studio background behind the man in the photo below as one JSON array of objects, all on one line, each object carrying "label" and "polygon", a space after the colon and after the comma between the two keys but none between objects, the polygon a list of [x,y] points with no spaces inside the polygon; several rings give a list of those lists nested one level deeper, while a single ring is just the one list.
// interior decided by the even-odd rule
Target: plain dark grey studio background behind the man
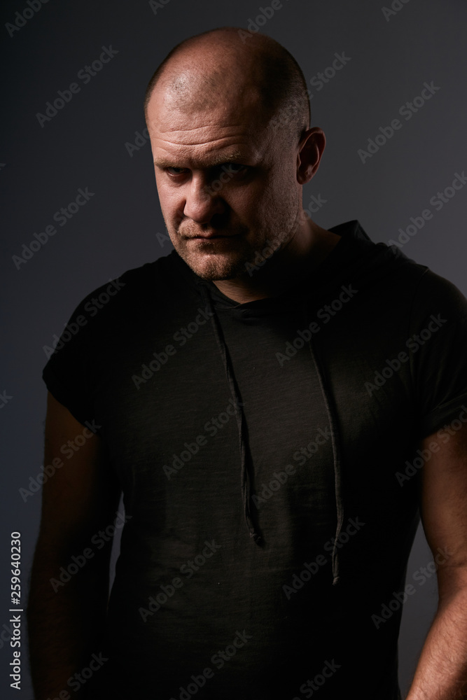
[{"label": "plain dark grey studio background behind the man", "polygon": [[[319,173],[304,190],[305,207],[312,195],[326,200],[315,221],[328,228],[358,218],[374,241],[387,242],[410,224],[410,217],[431,209],[433,218],[403,252],[466,294],[466,192],[456,192],[440,211],[429,200],[467,167],[467,8],[461,0],[396,0],[396,6],[401,9],[388,21],[379,1],[284,0],[261,31],[295,55],[308,82],[332,64],[335,52],[350,57],[322,90],[309,84],[312,123],[323,127],[328,137]],[[131,157],[125,147],[144,129],[141,103],[148,78],[186,36],[223,25],[247,27],[260,14],[259,0],[169,0],[156,13],[143,0],[50,0],[9,36],[6,22],[14,22],[15,13],[28,7],[26,0],[4,3],[0,27],[5,57],[0,182],[8,221],[1,240],[6,295],[0,392],[12,397],[0,409],[2,631],[9,618],[10,533],[22,533],[23,600],[38,533],[41,497],[34,493],[25,502],[19,489],[28,488],[29,478],[41,471],[43,346],[60,335],[86,293],[130,267],[166,255],[172,247],[161,245],[156,237],[165,233],[165,225],[150,146],[146,143]],[[78,71],[109,45],[118,54],[83,84]],[[432,80],[440,90],[405,121],[398,109]],[[81,85],[81,92],[41,127],[36,113],[44,113],[46,102],[53,102],[57,91],[73,82]],[[363,164],[358,149],[366,148],[379,127],[394,118],[403,127]],[[54,223],[55,211],[67,207],[78,188],[86,187],[95,193],[88,204],[67,225],[57,226],[57,234],[16,269],[12,256],[22,253],[22,244],[29,246],[34,232]],[[407,580],[431,558],[419,532]],[[405,605],[400,638],[403,689],[433,616],[435,591],[430,580]],[[11,647],[0,642],[4,698],[32,699],[25,627],[22,631],[20,692],[10,688]]]}]

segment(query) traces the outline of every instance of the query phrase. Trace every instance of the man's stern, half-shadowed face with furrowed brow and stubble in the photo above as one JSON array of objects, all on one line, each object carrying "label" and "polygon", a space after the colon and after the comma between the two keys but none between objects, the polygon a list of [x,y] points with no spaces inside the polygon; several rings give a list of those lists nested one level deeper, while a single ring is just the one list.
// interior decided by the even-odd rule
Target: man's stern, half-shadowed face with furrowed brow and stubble
[{"label": "man's stern, half-shadowed face with furrowed brow and stubble", "polygon": [[246,276],[247,262],[291,239],[301,212],[298,143],[266,128],[253,94],[181,109],[156,87],[147,120],[165,225],[196,274]]}]

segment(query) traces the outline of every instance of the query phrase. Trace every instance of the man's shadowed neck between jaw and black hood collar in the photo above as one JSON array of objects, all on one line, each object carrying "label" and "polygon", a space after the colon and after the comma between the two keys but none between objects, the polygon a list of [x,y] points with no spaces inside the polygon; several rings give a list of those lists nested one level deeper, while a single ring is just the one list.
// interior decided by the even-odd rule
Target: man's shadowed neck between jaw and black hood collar
[{"label": "man's shadowed neck between jaw and black hood collar", "polygon": [[214,280],[214,284],[239,304],[275,297],[319,267],[339,241],[340,236],[309,219],[298,245],[272,255],[251,276],[246,273],[235,279]]}]

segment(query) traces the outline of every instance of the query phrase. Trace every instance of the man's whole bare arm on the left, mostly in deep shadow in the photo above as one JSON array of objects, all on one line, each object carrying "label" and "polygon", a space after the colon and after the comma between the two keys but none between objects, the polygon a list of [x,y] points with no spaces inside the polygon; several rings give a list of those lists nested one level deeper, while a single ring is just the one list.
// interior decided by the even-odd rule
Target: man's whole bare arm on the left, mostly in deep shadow
[{"label": "man's whole bare arm on the left, mostly in deep shadow", "polygon": [[[113,523],[120,487],[104,457],[101,438],[83,430],[85,426],[49,393],[44,464],[58,457],[63,466],[43,485],[32,566],[27,617],[36,700],[78,697],[67,680],[89,666],[92,652],[101,651],[112,540],[99,549],[92,538]],[[71,448],[65,453],[60,448],[78,435],[86,438],[85,443],[67,458],[64,454],[70,455]],[[67,570],[75,563],[71,570],[77,568],[72,556],[83,557],[85,563],[78,559],[83,566],[69,580],[63,573],[61,579],[61,567]]]}]

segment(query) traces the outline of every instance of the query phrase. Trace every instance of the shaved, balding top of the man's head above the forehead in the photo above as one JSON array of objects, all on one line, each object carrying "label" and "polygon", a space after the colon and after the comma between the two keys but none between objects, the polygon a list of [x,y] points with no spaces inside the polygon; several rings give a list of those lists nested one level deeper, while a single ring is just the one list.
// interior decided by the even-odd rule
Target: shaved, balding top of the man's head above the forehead
[{"label": "shaved, balding top of the man's head above the forehead", "polygon": [[146,116],[155,92],[186,113],[249,104],[265,125],[293,139],[309,127],[306,81],[293,56],[269,36],[235,27],[198,34],[172,49],[146,89]]}]

